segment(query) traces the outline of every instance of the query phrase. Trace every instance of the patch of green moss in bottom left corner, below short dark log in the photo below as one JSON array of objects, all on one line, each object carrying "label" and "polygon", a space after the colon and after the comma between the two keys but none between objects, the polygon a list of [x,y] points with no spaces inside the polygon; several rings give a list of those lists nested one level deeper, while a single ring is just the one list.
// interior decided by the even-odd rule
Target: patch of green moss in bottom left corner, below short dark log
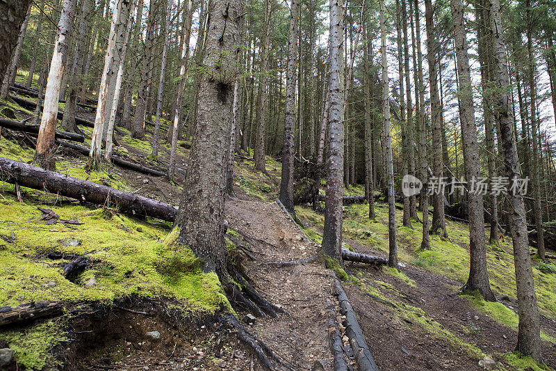
[{"label": "patch of green moss in bottom left corner, below short dark log", "polygon": [[60,320],[49,320],[24,330],[3,331],[0,339],[6,340],[13,349],[19,366],[28,370],[57,369],[59,365],[50,351],[59,342],[67,340],[66,333],[60,331]]}]

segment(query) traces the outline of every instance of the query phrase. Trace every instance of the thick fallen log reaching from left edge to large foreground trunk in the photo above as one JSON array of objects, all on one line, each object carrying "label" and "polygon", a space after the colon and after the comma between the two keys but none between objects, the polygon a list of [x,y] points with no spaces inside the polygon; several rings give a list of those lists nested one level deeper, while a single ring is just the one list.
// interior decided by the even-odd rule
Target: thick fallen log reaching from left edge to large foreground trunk
[{"label": "thick fallen log reaching from left edge to large foreground trunk", "polygon": [[174,221],[178,208],[143,196],[120,191],[101,184],[88,182],[44,170],[37,166],[25,164],[0,157],[0,179],[22,187],[47,190],[60,196],[77,200],[117,207],[126,214],[151,216],[165,221]]}]

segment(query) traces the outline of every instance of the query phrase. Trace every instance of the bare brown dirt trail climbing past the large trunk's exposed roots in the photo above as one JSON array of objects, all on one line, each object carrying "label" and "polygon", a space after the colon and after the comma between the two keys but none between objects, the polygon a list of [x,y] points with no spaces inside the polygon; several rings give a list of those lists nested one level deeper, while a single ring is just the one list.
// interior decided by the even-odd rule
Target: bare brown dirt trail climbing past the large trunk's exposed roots
[{"label": "bare brown dirt trail climbing past the large trunk's exposed roots", "polygon": [[327,301],[334,306],[338,303],[332,272],[317,262],[291,267],[265,265],[310,258],[316,254],[316,245],[307,241],[276,203],[234,198],[227,200],[226,212],[230,228],[252,242],[257,260],[244,265],[256,290],[291,315],[257,318],[251,329],[295,370],[321,370],[313,368],[319,361],[324,361],[324,370],[332,370]]}]

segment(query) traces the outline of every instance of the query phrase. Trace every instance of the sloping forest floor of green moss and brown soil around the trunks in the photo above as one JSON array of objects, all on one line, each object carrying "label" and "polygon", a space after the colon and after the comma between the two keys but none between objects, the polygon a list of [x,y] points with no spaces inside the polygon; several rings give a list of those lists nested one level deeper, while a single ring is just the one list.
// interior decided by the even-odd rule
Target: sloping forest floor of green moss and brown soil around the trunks
[{"label": "sloping forest floor of green moss and brown soil around the trunks", "polygon": [[[15,108],[19,118],[31,115],[13,103],[0,103]],[[83,111],[79,116],[88,118],[88,114]],[[81,129],[90,144],[92,129]],[[136,140],[126,135],[126,129],[119,130],[117,155],[165,168],[167,144],[161,145],[154,161],[148,156],[150,134]],[[29,144],[14,132],[0,139],[0,156],[30,161]],[[186,168],[187,144],[181,142],[179,147],[178,168]],[[172,184],[112,165],[87,173],[83,170],[86,158],[71,152],[60,152],[57,163],[61,173],[179,203],[181,171]],[[270,177],[255,171],[252,161],[237,159],[237,197],[226,201],[227,245],[256,290],[290,316],[256,318],[245,326],[294,370],[332,370],[328,320],[332,316],[336,324],[341,322],[333,271],[322,261],[290,267],[268,264],[315,256],[323,216],[309,207],[296,207],[305,223],[300,229],[273,202],[279,162],[269,157],[267,171]],[[0,348],[12,348],[17,361],[8,369],[40,370],[62,364],[73,370],[261,368],[256,356],[218,317],[224,308],[218,284],[209,275],[183,271],[190,257],[166,250],[170,224],[124,216],[109,205],[80,205],[41,191],[23,191],[23,200],[18,202],[13,186],[0,186],[0,307],[51,300],[67,303],[67,312],[47,322],[0,330]],[[361,192],[360,188],[345,190],[345,194]],[[83,224],[49,225],[41,219],[38,206]],[[375,207],[376,221],[366,217],[368,205],[344,207],[345,247],[387,256],[387,209],[384,203]],[[551,271],[553,265],[534,261],[546,361],[539,365],[513,352],[517,316],[511,242],[506,239],[500,246],[489,246],[489,274],[499,301],[486,303],[473,295],[457,294],[468,273],[466,224],[449,221],[450,240],[432,237],[432,251],[418,251],[421,225],[414,221],[414,227],[398,229],[400,271],[350,262],[345,269],[335,269],[378,368],[484,370],[482,361],[489,356],[499,370],[556,369],[556,268]],[[66,243],[74,240],[79,244]],[[53,252],[86,255],[97,264],[70,282],[61,274],[60,260],[48,258]],[[160,262],[169,257],[172,267],[174,261],[179,262],[177,271],[161,268]],[[92,287],[88,286],[91,278],[95,280]],[[331,308],[336,315],[331,315]],[[240,319],[247,315],[244,310],[236,313]],[[158,331],[160,338],[147,336],[148,331]],[[348,363],[357,370],[349,347],[345,350],[351,355]],[[279,363],[275,365],[281,369]]]}]

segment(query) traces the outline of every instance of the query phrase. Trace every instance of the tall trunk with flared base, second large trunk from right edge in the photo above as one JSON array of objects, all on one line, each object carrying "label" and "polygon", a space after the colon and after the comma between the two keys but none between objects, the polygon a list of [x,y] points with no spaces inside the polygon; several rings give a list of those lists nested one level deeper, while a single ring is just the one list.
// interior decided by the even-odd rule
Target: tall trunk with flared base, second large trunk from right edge
[{"label": "tall trunk with flared base, second large trunk from right edge", "polygon": [[[461,139],[464,142],[465,177],[468,184],[475,184],[480,175],[479,143],[475,129],[475,109],[473,108],[473,86],[467,47],[467,34],[464,24],[464,6],[461,0],[451,0],[452,19],[454,22],[455,52],[459,75],[459,120],[461,121]],[[469,278],[462,287],[462,292],[479,290],[484,299],[496,301],[486,271],[486,246],[484,240],[484,211],[482,192],[468,188],[469,213]]]}]

